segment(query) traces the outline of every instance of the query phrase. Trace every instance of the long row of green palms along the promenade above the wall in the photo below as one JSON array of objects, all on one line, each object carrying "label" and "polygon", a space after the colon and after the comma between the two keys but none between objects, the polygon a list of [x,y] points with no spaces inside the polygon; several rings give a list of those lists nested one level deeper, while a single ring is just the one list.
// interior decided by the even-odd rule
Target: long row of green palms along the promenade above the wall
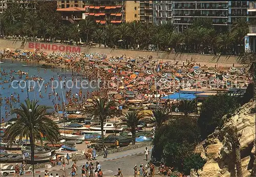
[{"label": "long row of green palms along the promenade above the wall", "polygon": [[[60,14],[53,11],[50,16],[44,9],[26,10],[19,4],[13,4],[0,16],[2,35],[17,36],[21,39],[38,38],[50,42],[76,44],[83,41],[96,42],[108,47],[170,50],[175,52],[204,54],[239,54],[243,53],[244,36],[248,33],[246,18],[233,22],[229,32],[219,32],[212,26],[211,19],[196,19],[182,33],[176,33],[172,23],[156,26],[139,21],[108,24],[101,26],[91,18],[75,23],[64,22]],[[152,47],[151,47],[152,46]]]}]

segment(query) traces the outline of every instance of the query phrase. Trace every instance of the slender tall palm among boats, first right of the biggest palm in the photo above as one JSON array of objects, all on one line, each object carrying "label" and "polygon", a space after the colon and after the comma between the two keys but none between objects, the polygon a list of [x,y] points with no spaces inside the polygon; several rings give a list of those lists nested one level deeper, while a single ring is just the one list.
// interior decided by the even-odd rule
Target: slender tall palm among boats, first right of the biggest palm
[{"label": "slender tall palm among boats, first right of the biggest palm", "polygon": [[[102,147],[104,147],[104,134],[103,134],[103,125],[104,121],[111,114],[111,107],[115,106],[114,102],[106,102],[105,99],[99,98],[93,100],[93,107],[88,110],[84,110],[84,113],[91,112],[94,114],[96,118],[100,120],[100,129],[101,129],[101,139],[102,139]],[[102,148],[103,149],[103,148]]]}]

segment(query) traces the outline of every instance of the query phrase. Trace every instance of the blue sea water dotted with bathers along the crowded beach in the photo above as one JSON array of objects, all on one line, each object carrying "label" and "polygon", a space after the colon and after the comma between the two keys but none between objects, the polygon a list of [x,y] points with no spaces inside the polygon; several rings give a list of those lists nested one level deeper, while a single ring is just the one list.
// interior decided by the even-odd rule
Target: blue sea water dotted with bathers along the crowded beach
[{"label": "blue sea water dotted with bathers along the crowded beach", "polygon": [[[47,68],[46,69],[46,73],[45,73],[45,68],[41,65],[37,65],[37,64],[26,64],[26,63],[19,63],[19,62],[13,62],[11,63],[11,61],[9,60],[4,60],[4,63],[0,63],[0,69],[1,69],[1,73],[5,70],[5,72],[8,72],[7,75],[1,75],[0,77],[2,78],[2,80],[0,80],[1,85],[0,85],[0,94],[1,97],[3,98],[2,100],[2,106],[1,106],[1,117],[4,117],[4,120],[8,120],[11,118],[11,115],[8,115],[6,117],[5,112],[7,111],[8,113],[10,112],[10,106],[9,104],[6,105],[6,100],[4,100],[4,98],[6,97],[11,97],[11,94],[13,94],[13,97],[16,99],[16,103],[15,100],[11,100],[11,106],[18,108],[19,104],[24,102],[24,100],[29,96],[29,99],[36,99],[38,100],[38,103],[40,105],[47,105],[47,106],[52,106],[54,107],[54,103],[52,102],[54,99],[54,102],[56,103],[56,99],[55,96],[53,95],[54,89],[51,88],[51,78],[54,77],[55,82],[55,87],[57,86],[57,81],[58,80],[58,75],[62,75],[62,80],[65,80],[65,76],[66,76],[66,82],[67,81],[71,81],[72,79],[72,72],[71,71],[67,71],[65,69],[56,69],[54,68],[54,70],[52,70],[51,68]],[[28,72],[29,77],[33,77],[34,75],[36,77],[41,77],[44,79],[44,84],[49,82],[49,85],[47,87],[47,92],[45,92],[45,85],[41,82],[39,82],[40,85],[42,85],[41,87],[41,96],[39,96],[39,85],[37,84],[37,86],[35,87],[35,91],[29,91],[27,92],[26,89],[26,85],[25,82],[23,80],[25,80],[26,75],[22,75],[22,79],[19,79],[19,75],[15,74],[15,72],[10,73],[10,70],[14,70],[15,72],[17,72],[18,70],[22,70],[25,72]],[[39,73],[38,73],[39,72]],[[76,74],[76,73],[74,73]],[[11,82],[11,78],[10,77],[14,77],[15,81]],[[78,80],[85,80],[82,79],[81,77],[77,76]],[[9,83],[4,83],[4,80],[9,80]],[[22,82],[20,82],[22,81]],[[87,81],[87,80],[86,80]],[[17,84],[17,82],[20,82],[20,86]],[[37,83],[37,82],[35,82]],[[28,82],[27,82],[27,85]],[[31,84],[32,85],[32,84]],[[18,87],[18,88],[16,88]],[[22,92],[22,88],[24,87],[24,92]],[[71,84],[70,84],[71,87]],[[78,84],[79,87],[79,84]],[[4,89],[3,89],[4,88]],[[8,89],[9,88],[9,89]],[[93,91],[96,90],[97,88],[83,88],[82,89],[82,94],[86,95],[87,91]],[[58,96],[60,96],[61,100],[60,102],[62,102],[62,94],[61,94],[61,90],[63,91],[63,95],[65,96],[66,91],[69,91],[69,88],[61,88],[58,87],[55,89],[55,91],[58,93]],[[79,88],[73,87],[72,89],[72,94],[75,93],[79,93]],[[50,99],[48,94],[52,93]],[[19,103],[17,102],[17,96],[19,94]],[[59,102],[59,100],[57,100],[58,104],[61,105],[61,103]],[[66,100],[65,98],[65,102],[68,103],[68,100]],[[12,117],[15,117],[14,115],[12,115]],[[1,120],[2,121],[2,120]]]}]

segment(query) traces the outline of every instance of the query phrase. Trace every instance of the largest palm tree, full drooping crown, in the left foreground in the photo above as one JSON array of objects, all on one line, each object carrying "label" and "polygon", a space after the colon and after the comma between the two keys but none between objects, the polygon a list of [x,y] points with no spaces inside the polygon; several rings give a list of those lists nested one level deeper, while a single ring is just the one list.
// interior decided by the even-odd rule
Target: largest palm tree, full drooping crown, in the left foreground
[{"label": "largest palm tree, full drooping crown, in the left foreground", "polygon": [[40,140],[42,143],[41,136],[46,137],[51,142],[59,140],[60,135],[57,124],[46,116],[48,114],[47,110],[50,108],[26,99],[25,104],[20,104],[20,109],[13,109],[11,111],[11,114],[19,115],[20,118],[6,130],[4,140],[7,143],[12,143],[16,137],[19,137],[19,140],[29,137],[32,165],[34,165],[35,140]]}]

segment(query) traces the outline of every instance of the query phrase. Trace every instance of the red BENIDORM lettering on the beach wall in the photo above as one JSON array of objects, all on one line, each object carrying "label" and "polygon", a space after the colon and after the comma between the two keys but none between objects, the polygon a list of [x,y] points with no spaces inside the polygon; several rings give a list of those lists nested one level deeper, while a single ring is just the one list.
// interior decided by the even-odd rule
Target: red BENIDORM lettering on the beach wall
[{"label": "red BENIDORM lettering on the beach wall", "polygon": [[37,48],[40,50],[52,50],[56,52],[72,52],[80,53],[81,47],[69,46],[69,45],[56,45],[56,44],[46,44],[46,43],[33,43],[29,42],[29,48]]}]

